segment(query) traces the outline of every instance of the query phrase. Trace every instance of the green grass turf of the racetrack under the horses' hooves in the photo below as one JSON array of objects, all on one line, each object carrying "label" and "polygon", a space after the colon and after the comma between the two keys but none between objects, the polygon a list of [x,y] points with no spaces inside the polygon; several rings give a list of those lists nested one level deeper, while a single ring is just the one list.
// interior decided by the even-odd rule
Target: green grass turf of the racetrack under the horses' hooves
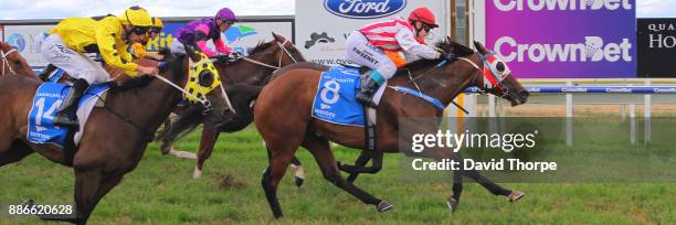
[{"label": "green grass turf of the racetrack under the horses' hooves", "polygon": [[[580,139],[577,139],[580,140]],[[199,136],[177,144],[194,151]],[[603,144],[603,143],[601,143]],[[335,148],[338,160],[352,161],[357,151]],[[395,205],[378,213],[323,179],[303,149],[306,182],[298,189],[289,173],[278,196],[285,217],[274,221],[260,184],[267,157],[253,127],[222,135],[201,179],[192,179],[194,161],[163,157],[151,144],[138,168],[97,205],[92,224],[674,224],[674,183],[508,183],[527,193],[518,203],[467,183],[458,210],[451,214],[447,182],[405,182],[400,159],[385,156],[379,174],[357,184]],[[0,168],[0,204],[34,199],[38,203],[72,203],[72,169],[33,154]],[[0,224],[39,224],[33,217],[0,217]]]}]

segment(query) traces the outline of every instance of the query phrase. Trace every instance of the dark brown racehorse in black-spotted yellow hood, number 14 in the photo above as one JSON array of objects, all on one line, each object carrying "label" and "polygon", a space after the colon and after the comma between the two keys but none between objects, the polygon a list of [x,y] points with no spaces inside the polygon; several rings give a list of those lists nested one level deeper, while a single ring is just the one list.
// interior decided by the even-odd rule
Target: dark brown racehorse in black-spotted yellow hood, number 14
[{"label": "dark brown racehorse in black-spotted yellow hood, number 14", "polygon": [[[201,57],[192,50],[187,49],[187,52],[194,62]],[[213,74],[200,74],[199,79],[213,81]],[[49,219],[86,224],[98,201],[138,165],[155,130],[181,98],[181,92],[165,82],[179,87],[186,85],[188,57],[167,63],[156,77],[139,79],[136,87],[118,87],[108,92],[105,107],[94,108],[77,151],[68,159],[59,147],[27,140],[27,115],[41,82],[27,76],[0,77],[0,117],[4,118],[0,121],[0,165],[38,152],[53,162],[74,169],[76,214],[68,218]],[[215,119],[223,119],[225,103],[222,93],[211,92],[207,96],[215,107],[212,115]]]}]

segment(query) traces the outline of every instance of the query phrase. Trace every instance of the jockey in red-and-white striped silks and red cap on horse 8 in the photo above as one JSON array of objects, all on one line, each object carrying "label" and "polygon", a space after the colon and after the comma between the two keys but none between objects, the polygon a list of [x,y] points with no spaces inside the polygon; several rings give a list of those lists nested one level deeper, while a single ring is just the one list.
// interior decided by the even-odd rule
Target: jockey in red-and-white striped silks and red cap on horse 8
[{"label": "jockey in red-and-white striped silks and red cap on horse 8", "polygon": [[433,28],[439,28],[434,14],[422,7],[411,12],[409,21],[391,19],[353,31],[346,41],[347,60],[373,69],[369,78],[361,83],[357,100],[370,104],[376,89],[394,76],[397,65],[388,54],[403,52],[409,62],[420,57],[440,58],[442,54],[424,42]]}]

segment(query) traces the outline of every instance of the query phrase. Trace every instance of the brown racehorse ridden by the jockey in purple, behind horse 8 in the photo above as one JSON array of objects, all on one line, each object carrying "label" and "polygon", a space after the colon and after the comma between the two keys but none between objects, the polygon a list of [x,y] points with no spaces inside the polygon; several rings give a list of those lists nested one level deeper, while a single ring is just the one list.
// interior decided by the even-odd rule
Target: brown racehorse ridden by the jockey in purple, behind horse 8
[{"label": "brown racehorse ridden by the jockey in purple, behind horse 8", "polygon": [[[221,81],[225,85],[225,92],[234,107],[236,114],[231,114],[228,119],[220,125],[203,122],[201,110],[187,109],[179,114],[178,119],[166,127],[162,135],[158,138],[162,140],[162,153],[169,153],[171,142],[180,133],[186,133],[204,124],[202,138],[198,150],[198,161],[193,178],[199,178],[202,173],[204,161],[209,159],[214,144],[221,132],[235,132],[246,128],[253,121],[253,101],[258,96],[262,86],[267,84],[275,69],[286,65],[305,62],[305,58],[296,46],[284,36],[273,33],[274,40],[260,43],[250,50],[250,55],[245,58],[229,62],[226,58],[219,58],[214,66],[219,71]],[[299,167],[299,161],[295,163]],[[297,168],[297,170],[300,170]],[[302,173],[302,172],[297,172]],[[302,183],[302,176],[296,175],[296,183]]]}]

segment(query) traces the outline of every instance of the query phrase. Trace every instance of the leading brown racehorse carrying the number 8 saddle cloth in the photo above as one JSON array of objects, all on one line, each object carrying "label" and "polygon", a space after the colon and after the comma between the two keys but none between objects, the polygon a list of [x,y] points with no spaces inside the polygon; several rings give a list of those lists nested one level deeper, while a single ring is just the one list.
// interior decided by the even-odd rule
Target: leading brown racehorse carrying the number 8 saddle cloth
[{"label": "leading brown racehorse carrying the number 8 saddle cloth", "polygon": [[[478,52],[452,42],[439,43],[439,49],[448,53],[446,58],[461,58],[442,63],[442,60],[421,60],[404,66],[388,82],[388,86],[404,86],[419,89],[430,96],[448,105],[455,96],[466,87],[475,85],[475,81],[483,81],[486,75],[480,72],[483,63],[480,56],[488,51],[479,43],[475,43]],[[448,61],[446,61],[448,62]],[[471,63],[469,63],[471,62]],[[503,63],[503,66],[506,64]],[[476,65],[476,67],[475,67]],[[282,207],[277,200],[277,185],[286,171],[294,153],[303,146],[315,157],[325,179],[338,188],[347,191],[367,204],[376,205],[379,212],[392,208],[388,202],[372,196],[360,190],[340,175],[340,170],[330,150],[329,140],[349,148],[360,149],[365,143],[363,128],[341,126],[325,122],[310,116],[313,100],[317,93],[317,83],[326,66],[316,64],[295,64],[281,69],[274,78],[261,92],[254,107],[254,121],[261,132],[270,158],[270,165],[262,178],[265,196],[270,203],[275,217],[283,216]],[[413,78],[409,78],[409,74]],[[483,76],[482,76],[483,75]],[[513,105],[526,103],[528,92],[514,78],[506,76],[500,85],[505,88],[492,88],[489,92],[508,99]],[[478,84],[478,86],[484,86]],[[503,89],[508,89],[503,93]],[[373,164],[381,161],[382,152],[399,152],[399,125],[404,118],[441,117],[443,110],[434,107],[422,98],[404,95],[387,88],[377,111],[377,152],[372,152]],[[418,129],[426,133],[435,133],[439,124],[420,125]],[[402,140],[406,141],[406,140]],[[425,151],[425,157],[441,159],[461,159],[452,151]],[[377,172],[379,168],[371,172]],[[460,178],[461,173],[455,173]],[[517,201],[522,193],[506,190],[477,171],[462,171],[462,175],[468,176],[496,195],[505,195],[510,201]],[[462,180],[461,180],[462,181]],[[448,206],[455,210],[460,200],[462,183],[454,183],[453,196],[448,200]]]}]

